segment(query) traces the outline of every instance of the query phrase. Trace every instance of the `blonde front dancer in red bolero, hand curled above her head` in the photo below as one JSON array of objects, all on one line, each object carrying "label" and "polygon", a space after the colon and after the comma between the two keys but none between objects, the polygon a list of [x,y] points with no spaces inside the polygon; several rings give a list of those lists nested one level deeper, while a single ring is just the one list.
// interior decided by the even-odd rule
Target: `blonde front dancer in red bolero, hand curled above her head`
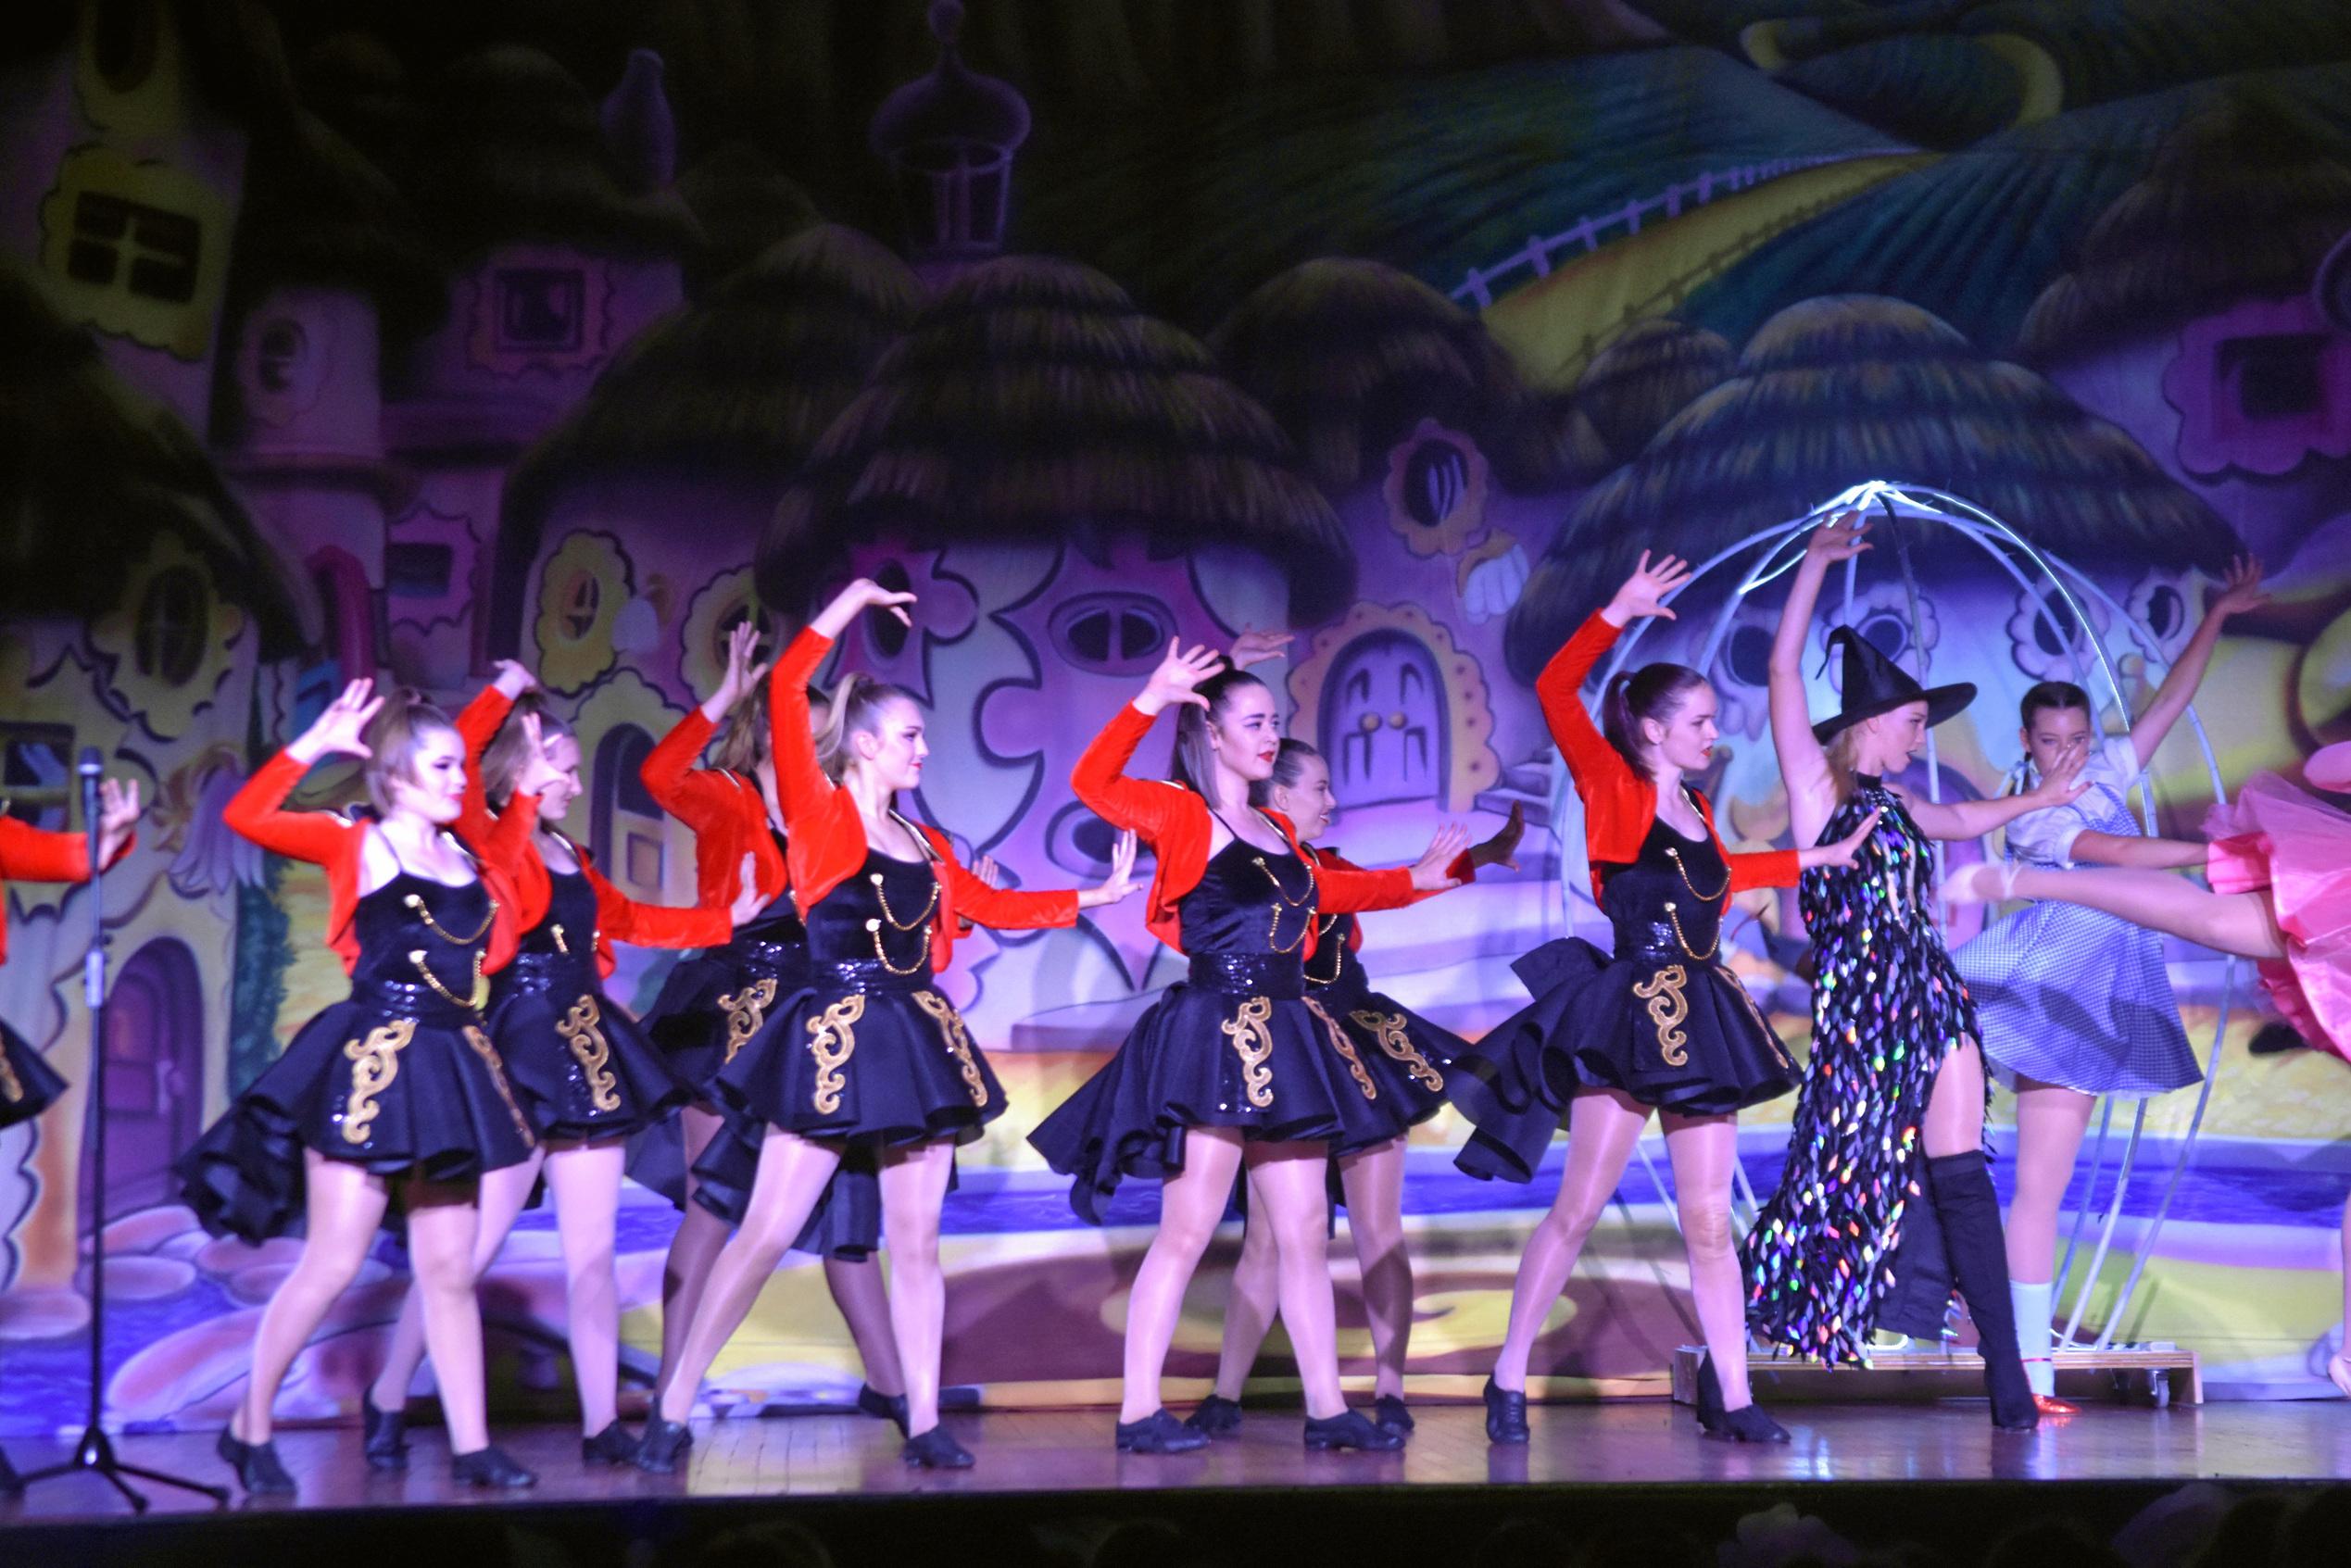
[{"label": "blonde front dancer in red bolero, hand curled above her head", "polygon": [[[781,997],[766,1025],[719,1067],[726,1138],[759,1138],[757,1178],[658,1392],[637,1450],[644,1469],[675,1469],[696,1385],[853,1150],[882,1166],[891,1326],[912,1427],[905,1460],[971,1465],[971,1453],[938,1425],[938,1211],[955,1145],[1004,1112],[1004,1088],[931,973],[947,964],[962,914],[987,926],[1072,926],[1081,907],[1126,898],[1133,846],[1121,846],[1103,886],[1081,893],[990,889],[957,865],[943,835],[915,827],[893,806],[900,790],[922,783],[931,750],[912,696],[851,675],[832,693],[823,738],[809,736],[809,677],[842,628],[868,607],[907,621],[903,607],[912,602],[865,578],[851,583],[769,677],[769,745],[790,832],[792,896],[809,922],[809,980]],[[839,783],[828,778],[828,759]],[[703,1171],[719,1154],[705,1152]]]}]

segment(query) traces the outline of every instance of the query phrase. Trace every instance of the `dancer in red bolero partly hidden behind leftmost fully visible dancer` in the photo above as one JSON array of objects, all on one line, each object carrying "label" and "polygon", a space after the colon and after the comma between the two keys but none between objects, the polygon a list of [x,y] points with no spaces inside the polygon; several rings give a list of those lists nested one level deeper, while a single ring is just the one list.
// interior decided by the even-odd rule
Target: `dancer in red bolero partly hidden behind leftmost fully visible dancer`
[{"label": "dancer in red bolero partly hidden behind leftmost fully visible dancer", "polygon": [[[538,1152],[482,1178],[473,1260],[475,1274],[498,1260],[545,1171],[564,1253],[564,1335],[581,1394],[581,1460],[628,1465],[637,1458],[637,1439],[616,1410],[621,1288],[611,1258],[621,1161],[625,1140],[691,1091],[637,1023],[611,1006],[604,976],[616,940],[639,947],[724,943],[734,922],[757,907],[757,891],[745,877],[731,912],[670,910],[637,903],[607,882],[581,846],[550,825],[581,797],[581,748],[531,696],[534,686],[531,675],[508,661],[456,719],[470,762],[458,835],[494,844],[503,813],[534,818],[531,837],[503,835],[501,870],[515,884],[515,924],[524,933],[515,961],[491,985],[489,1037],[538,1133]],[[364,1403],[374,1469],[407,1469],[402,1406],[426,1354],[418,1307],[409,1291]]]}]

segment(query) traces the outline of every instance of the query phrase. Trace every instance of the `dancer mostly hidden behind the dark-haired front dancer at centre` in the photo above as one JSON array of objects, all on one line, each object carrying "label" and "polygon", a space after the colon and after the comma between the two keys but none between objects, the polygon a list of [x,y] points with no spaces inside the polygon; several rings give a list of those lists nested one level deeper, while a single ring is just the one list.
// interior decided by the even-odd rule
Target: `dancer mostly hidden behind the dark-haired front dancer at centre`
[{"label": "dancer mostly hidden behind the dark-haired front dancer at centre", "polygon": [[[1232,651],[1234,668],[1246,665],[1244,649]],[[1298,835],[1298,853],[1314,870],[1361,872],[1335,849],[1314,844],[1328,827],[1338,799],[1331,795],[1331,764],[1305,741],[1284,741],[1274,771],[1248,792],[1248,804],[1279,811]],[[1509,825],[1493,839],[1467,851],[1453,867],[1465,882],[1479,865],[1509,865],[1526,832],[1526,818],[1512,806]],[[1406,903],[1432,898],[1418,889]],[[1380,1086],[1375,1105],[1389,1107],[1396,1133],[1385,1143],[1335,1161],[1340,1192],[1347,1199],[1347,1229],[1364,1274],[1364,1316],[1371,1321],[1373,1354],[1373,1425],[1411,1434],[1413,1413],[1404,1403],[1404,1363],[1413,1335],[1413,1260],[1404,1251],[1404,1145],[1408,1128],[1444,1107],[1446,1072],[1467,1051],[1444,1030],[1392,997],[1371,990],[1371,976],[1357,950],[1364,929],[1354,914],[1324,914],[1314,931],[1314,961],[1305,966],[1307,994],[1321,1004]],[[1262,1220],[1241,1229],[1241,1262],[1232,1272],[1232,1295],[1225,1300],[1225,1347],[1215,1361],[1215,1392],[1185,1420],[1194,1432],[1227,1436],[1241,1429],[1241,1385],[1265,1345],[1279,1307],[1281,1269],[1274,1234]]]}]

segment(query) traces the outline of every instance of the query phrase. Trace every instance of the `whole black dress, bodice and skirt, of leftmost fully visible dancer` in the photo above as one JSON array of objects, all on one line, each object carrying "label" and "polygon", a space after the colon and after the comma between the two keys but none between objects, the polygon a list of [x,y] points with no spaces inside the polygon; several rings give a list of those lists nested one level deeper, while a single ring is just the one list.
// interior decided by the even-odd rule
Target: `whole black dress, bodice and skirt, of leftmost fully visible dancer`
[{"label": "whole black dress, bodice and skirt, of leftmost fully visible dancer", "polygon": [[205,1229],[261,1241],[303,1215],[303,1150],[376,1175],[468,1182],[536,1135],[475,1001],[491,903],[480,882],[400,872],[357,900],[350,997],[294,1041],[179,1159]]}]

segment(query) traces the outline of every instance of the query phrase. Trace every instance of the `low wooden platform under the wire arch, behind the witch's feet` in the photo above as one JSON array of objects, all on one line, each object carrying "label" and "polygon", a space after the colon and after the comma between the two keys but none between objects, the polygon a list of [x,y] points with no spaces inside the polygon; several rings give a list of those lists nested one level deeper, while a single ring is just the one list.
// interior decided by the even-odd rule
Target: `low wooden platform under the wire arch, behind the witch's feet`
[{"label": "low wooden platform under the wire arch, behind the witch's feet", "polygon": [[[1704,1345],[1674,1352],[1674,1403],[1697,1403],[1697,1363]],[[2177,1345],[2114,1345],[2109,1349],[2059,1349],[2057,1396],[2078,1406],[2132,1403],[2165,1408],[2203,1403],[2196,1352]],[[1749,1363],[1756,1399],[1780,1410],[1813,1403],[1918,1403],[1965,1399],[1984,1392],[1984,1359],[1975,1349],[1888,1349],[1871,1366],[1822,1366],[1808,1356]]]}]

